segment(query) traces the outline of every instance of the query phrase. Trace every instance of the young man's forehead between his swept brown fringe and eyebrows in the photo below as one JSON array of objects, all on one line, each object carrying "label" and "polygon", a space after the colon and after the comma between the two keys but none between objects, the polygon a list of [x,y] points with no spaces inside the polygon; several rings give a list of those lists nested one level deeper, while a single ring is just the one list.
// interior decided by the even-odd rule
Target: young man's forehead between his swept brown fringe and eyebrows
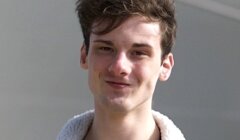
[{"label": "young man's forehead between his swept brown fringe and eyebrows", "polygon": [[[104,23],[102,23],[104,24]],[[93,28],[93,32],[101,30],[104,25],[98,25]],[[133,16],[124,21],[117,28],[109,33],[97,35],[91,33],[90,40],[96,38],[126,41],[157,41],[161,39],[161,29],[159,22],[149,21],[143,16]]]}]

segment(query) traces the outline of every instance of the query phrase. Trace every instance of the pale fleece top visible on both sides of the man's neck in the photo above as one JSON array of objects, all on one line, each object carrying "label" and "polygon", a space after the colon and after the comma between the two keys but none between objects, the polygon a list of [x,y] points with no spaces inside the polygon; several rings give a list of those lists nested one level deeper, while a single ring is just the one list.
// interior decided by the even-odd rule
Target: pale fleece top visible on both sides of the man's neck
[{"label": "pale fleece top visible on both sides of the man's neck", "polygon": [[[181,131],[165,115],[152,111],[156,124],[160,128],[161,140],[185,140]],[[74,116],[60,131],[57,140],[84,140],[94,118],[94,111],[90,110]]]}]

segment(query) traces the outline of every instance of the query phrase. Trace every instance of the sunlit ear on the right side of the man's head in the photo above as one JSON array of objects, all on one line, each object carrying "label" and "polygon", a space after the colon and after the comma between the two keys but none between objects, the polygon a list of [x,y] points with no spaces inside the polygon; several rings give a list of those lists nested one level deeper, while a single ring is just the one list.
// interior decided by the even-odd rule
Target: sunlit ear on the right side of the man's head
[{"label": "sunlit ear on the right side of the man's head", "polygon": [[171,75],[172,68],[174,66],[173,54],[169,53],[162,60],[159,79],[160,81],[166,81]]}]

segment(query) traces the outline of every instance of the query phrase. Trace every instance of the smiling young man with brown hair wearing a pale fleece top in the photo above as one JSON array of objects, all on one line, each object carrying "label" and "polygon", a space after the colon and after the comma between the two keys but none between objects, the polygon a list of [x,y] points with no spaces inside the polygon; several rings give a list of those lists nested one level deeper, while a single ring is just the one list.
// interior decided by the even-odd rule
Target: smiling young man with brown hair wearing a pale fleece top
[{"label": "smiling young man with brown hair wearing a pale fleece top", "polygon": [[152,110],[158,80],[174,65],[171,0],[79,0],[94,110],[69,120],[58,140],[185,140],[166,116]]}]

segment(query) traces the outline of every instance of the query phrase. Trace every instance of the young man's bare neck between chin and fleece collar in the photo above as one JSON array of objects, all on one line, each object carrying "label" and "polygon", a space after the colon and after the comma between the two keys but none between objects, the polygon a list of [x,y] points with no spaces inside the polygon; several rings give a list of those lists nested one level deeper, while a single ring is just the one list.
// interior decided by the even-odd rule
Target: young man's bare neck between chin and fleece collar
[{"label": "young man's bare neck between chin and fleece collar", "polygon": [[131,113],[95,110],[86,140],[159,140],[159,137],[151,109]]}]

